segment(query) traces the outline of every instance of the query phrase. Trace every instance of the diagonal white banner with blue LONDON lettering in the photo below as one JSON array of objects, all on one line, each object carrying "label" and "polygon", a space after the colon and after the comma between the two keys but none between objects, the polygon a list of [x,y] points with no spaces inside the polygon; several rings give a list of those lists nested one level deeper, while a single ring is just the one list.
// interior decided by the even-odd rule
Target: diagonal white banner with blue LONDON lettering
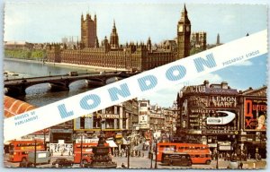
[{"label": "diagonal white banner with blue LONDON lettering", "polygon": [[267,30],[263,30],[120,82],[86,91],[19,116],[6,118],[4,142],[266,53]]}]

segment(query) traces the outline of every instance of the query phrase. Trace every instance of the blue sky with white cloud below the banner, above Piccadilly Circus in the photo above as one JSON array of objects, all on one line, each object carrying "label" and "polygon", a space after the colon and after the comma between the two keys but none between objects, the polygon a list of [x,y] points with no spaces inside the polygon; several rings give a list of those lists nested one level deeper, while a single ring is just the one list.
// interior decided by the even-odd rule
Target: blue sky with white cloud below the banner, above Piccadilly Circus
[{"label": "blue sky with white cloud below the banner, above Piccadilly Circus", "polygon": [[[239,64],[220,69],[214,73],[208,73],[192,81],[184,82],[184,86],[199,85],[205,80],[211,83],[228,82],[231,89],[247,90],[249,87],[259,89],[267,85],[267,55],[258,56]],[[177,93],[183,85],[172,85],[164,90],[158,90],[155,94],[147,94],[139,99],[149,99],[151,105],[172,107]]]}]

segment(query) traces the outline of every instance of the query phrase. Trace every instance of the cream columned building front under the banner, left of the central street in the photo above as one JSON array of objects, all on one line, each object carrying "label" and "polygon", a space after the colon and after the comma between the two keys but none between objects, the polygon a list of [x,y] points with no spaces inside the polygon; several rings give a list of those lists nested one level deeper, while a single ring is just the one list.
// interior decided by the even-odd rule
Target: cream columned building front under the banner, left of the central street
[{"label": "cream columned building front under the banner, left of the central street", "polygon": [[[120,138],[131,133],[133,125],[139,123],[138,100],[130,99],[121,104],[107,107],[92,114],[74,119],[74,134],[85,133],[91,138],[100,132],[107,138]],[[119,142],[121,143],[121,142]]]}]

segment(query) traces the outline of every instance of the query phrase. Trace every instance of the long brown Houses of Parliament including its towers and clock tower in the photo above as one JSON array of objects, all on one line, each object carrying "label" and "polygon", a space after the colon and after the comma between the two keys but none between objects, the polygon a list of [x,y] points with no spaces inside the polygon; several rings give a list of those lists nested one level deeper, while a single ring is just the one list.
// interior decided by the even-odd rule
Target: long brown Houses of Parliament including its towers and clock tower
[{"label": "long brown Houses of Parliament including its towers and clock tower", "polygon": [[[82,14],[80,43],[73,48],[50,45],[47,47],[48,61],[145,71],[189,56],[191,22],[185,5],[177,23],[177,39],[166,41],[163,47],[154,47],[150,39],[146,44],[131,42],[124,46],[120,45],[115,22],[113,22],[110,38],[105,37],[100,44],[96,34],[96,23],[96,15],[93,18],[89,14],[86,16]],[[206,34],[203,36],[206,43]]]}]

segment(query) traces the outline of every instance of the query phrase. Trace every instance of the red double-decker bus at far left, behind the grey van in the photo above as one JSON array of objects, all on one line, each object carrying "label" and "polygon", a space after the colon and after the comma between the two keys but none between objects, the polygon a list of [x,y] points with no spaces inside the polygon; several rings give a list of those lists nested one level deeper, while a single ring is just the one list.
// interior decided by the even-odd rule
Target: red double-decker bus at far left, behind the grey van
[{"label": "red double-decker bus at far left, behind the grey van", "polygon": [[36,150],[45,150],[44,142],[36,141],[12,141],[9,144],[9,161],[24,162],[28,160],[28,152]]}]

